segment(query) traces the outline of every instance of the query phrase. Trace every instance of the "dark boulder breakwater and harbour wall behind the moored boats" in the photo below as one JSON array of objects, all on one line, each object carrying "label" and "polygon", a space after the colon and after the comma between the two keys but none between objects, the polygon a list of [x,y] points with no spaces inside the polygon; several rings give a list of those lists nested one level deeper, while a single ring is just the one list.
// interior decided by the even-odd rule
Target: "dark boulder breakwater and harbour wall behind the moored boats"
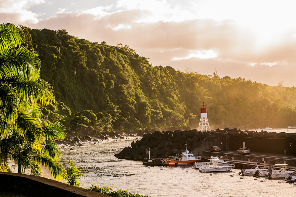
[{"label": "dark boulder breakwater and harbour wall behind the moored boats", "polygon": [[209,146],[217,145],[221,150],[237,150],[243,146],[252,152],[275,154],[296,154],[295,133],[275,133],[267,131],[241,131],[224,128],[210,132],[189,131],[155,131],[146,133],[141,140],[133,141],[114,156],[120,159],[142,160],[148,158],[167,158],[181,155],[187,149],[194,155],[203,155]]}]

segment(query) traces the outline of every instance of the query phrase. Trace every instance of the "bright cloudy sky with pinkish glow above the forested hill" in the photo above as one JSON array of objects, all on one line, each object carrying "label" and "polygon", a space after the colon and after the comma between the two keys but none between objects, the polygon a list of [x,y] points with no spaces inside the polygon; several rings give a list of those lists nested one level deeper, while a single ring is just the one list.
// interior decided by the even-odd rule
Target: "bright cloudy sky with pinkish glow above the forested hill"
[{"label": "bright cloudy sky with pinkish glow above the forested hill", "polygon": [[293,0],[0,0],[0,23],[121,43],[152,66],[296,87],[295,7]]}]

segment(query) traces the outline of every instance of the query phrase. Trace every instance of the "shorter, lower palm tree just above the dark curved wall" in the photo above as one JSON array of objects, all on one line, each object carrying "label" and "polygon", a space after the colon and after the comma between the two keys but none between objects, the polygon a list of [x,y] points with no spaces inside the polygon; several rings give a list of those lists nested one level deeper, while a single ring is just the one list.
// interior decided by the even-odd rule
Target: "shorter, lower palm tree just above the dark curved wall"
[{"label": "shorter, lower palm tree just above the dark curved wall", "polygon": [[61,152],[54,140],[64,139],[66,128],[58,122],[43,128],[46,144],[42,151],[33,149],[30,143],[15,131],[11,138],[0,140],[1,158],[4,158],[7,163],[9,159],[14,160],[18,164],[18,173],[29,172],[31,175],[42,176],[41,166],[44,166],[50,170],[53,178],[63,179],[66,171],[59,163]]}]

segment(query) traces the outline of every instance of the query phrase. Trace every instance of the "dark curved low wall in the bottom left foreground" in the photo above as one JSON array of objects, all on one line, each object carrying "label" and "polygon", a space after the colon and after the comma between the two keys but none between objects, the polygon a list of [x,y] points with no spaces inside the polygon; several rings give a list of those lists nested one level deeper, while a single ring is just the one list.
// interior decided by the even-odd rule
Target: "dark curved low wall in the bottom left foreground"
[{"label": "dark curved low wall in the bottom left foreground", "polygon": [[0,191],[26,197],[106,197],[107,195],[78,188],[44,177],[0,172]]}]

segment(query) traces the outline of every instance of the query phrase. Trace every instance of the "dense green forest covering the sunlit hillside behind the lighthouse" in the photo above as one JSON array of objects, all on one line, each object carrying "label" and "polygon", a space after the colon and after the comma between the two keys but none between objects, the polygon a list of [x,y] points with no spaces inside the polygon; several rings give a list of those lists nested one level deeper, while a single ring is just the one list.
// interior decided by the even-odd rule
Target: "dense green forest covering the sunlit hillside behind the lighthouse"
[{"label": "dense green forest covering the sunlit hillside behind the lighthouse", "polygon": [[22,29],[57,101],[43,109],[43,118],[69,131],[194,129],[202,102],[209,105],[211,129],[296,126],[294,86],[152,66],[128,45],[89,42],[66,30]]}]

